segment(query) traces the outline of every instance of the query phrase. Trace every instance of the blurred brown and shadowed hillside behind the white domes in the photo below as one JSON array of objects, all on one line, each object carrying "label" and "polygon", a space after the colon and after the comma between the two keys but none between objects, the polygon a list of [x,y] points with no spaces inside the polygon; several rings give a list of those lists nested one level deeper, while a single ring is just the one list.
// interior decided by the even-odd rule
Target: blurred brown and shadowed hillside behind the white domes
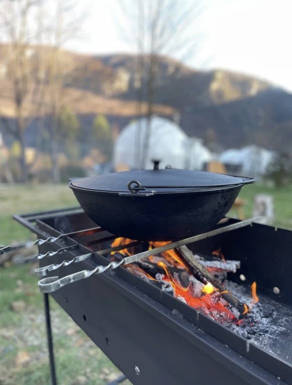
[{"label": "blurred brown and shadowed hillside behind the white domes", "polygon": [[[0,60],[0,115],[13,118],[5,46],[0,47]],[[136,117],[136,55],[63,52],[62,60],[66,81],[64,104],[79,115],[85,130],[96,113],[105,114],[119,129]],[[197,71],[160,57],[154,102],[159,115],[172,119],[179,112],[182,128],[191,136],[203,138],[210,147],[255,143],[292,151],[292,95],[254,77],[225,70]],[[31,107],[26,105],[27,114]],[[145,113],[146,104],[141,110]],[[35,130],[33,122],[28,130],[29,142]]]}]

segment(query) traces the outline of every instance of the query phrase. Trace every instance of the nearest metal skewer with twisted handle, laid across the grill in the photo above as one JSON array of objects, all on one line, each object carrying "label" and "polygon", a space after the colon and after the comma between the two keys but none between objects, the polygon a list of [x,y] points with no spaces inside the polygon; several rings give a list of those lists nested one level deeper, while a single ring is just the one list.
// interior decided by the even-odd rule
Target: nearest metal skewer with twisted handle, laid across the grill
[{"label": "nearest metal skewer with twisted handle, laid across the grill", "polygon": [[74,274],[70,274],[70,275],[63,277],[63,278],[60,278],[60,279],[58,276],[43,278],[38,282],[39,288],[40,288],[41,293],[51,293],[51,292],[56,291],[56,290],[60,289],[61,287],[64,287],[64,286],[66,286],[72,282],[76,282],[76,281],[80,281],[82,279],[88,278],[93,274],[101,274],[106,270],[116,269],[120,265],[127,265],[127,264],[130,264],[133,262],[137,262],[141,259],[148,258],[150,256],[163,253],[167,250],[172,250],[172,249],[175,249],[175,248],[180,247],[180,246],[184,246],[184,245],[188,245],[190,243],[196,242],[196,241],[200,241],[202,239],[213,237],[214,235],[223,234],[223,233],[226,233],[226,232],[231,231],[231,230],[236,230],[236,229],[240,229],[240,228],[245,227],[245,226],[249,226],[249,225],[251,225],[252,222],[254,222],[257,219],[258,218],[248,219],[246,221],[242,221],[242,222],[234,223],[234,224],[229,225],[229,226],[221,227],[219,229],[215,229],[215,230],[209,231],[209,232],[204,233],[204,234],[199,234],[199,235],[195,235],[194,237],[186,238],[186,239],[183,239],[183,240],[180,240],[177,242],[172,242],[170,244],[157,247],[156,249],[153,249],[153,250],[144,251],[142,253],[135,254],[135,255],[130,256],[130,257],[125,257],[119,262],[113,261],[113,262],[110,262],[106,266],[100,266],[100,265],[96,266],[96,268],[93,270],[82,270],[82,271],[79,271],[79,272],[74,273]]}]

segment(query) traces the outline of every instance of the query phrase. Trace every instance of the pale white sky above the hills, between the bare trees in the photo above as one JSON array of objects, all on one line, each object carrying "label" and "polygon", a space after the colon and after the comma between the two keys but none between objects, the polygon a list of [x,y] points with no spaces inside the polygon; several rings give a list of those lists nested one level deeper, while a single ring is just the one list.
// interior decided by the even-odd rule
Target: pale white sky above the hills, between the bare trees
[{"label": "pale white sky above the hills, between the bare trees", "polygon": [[[67,48],[89,54],[136,52],[121,34],[121,0],[83,0],[80,33]],[[133,4],[142,0],[129,0]],[[182,6],[187,0],[177,0]],[[200,0],[194,0],[193,2]],[[197,48],[183,61],[254,75],[292,92],[292,0],[201,0],[191,25]],[[172,56],[181,60],[179,55]]]}]

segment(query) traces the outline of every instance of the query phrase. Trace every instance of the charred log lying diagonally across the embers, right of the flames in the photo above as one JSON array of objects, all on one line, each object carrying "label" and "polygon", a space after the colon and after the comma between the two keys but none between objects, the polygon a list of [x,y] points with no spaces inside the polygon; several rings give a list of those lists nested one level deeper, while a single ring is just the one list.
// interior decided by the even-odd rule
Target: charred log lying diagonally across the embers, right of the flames
[{"label": "charred log lying diagonally across the embers, right of the flames", "polygon": [[214,287],[220,290],[222,297],[232,306],[235,311],[232,311],[237,319],[243,318],[248,312],[247,305],[240,302],[204,267],[197,258],[193,255],[187,246],[181,246],[177,249],[185,261],[188,263],[192,273],[205,283],[210,282]]}]

